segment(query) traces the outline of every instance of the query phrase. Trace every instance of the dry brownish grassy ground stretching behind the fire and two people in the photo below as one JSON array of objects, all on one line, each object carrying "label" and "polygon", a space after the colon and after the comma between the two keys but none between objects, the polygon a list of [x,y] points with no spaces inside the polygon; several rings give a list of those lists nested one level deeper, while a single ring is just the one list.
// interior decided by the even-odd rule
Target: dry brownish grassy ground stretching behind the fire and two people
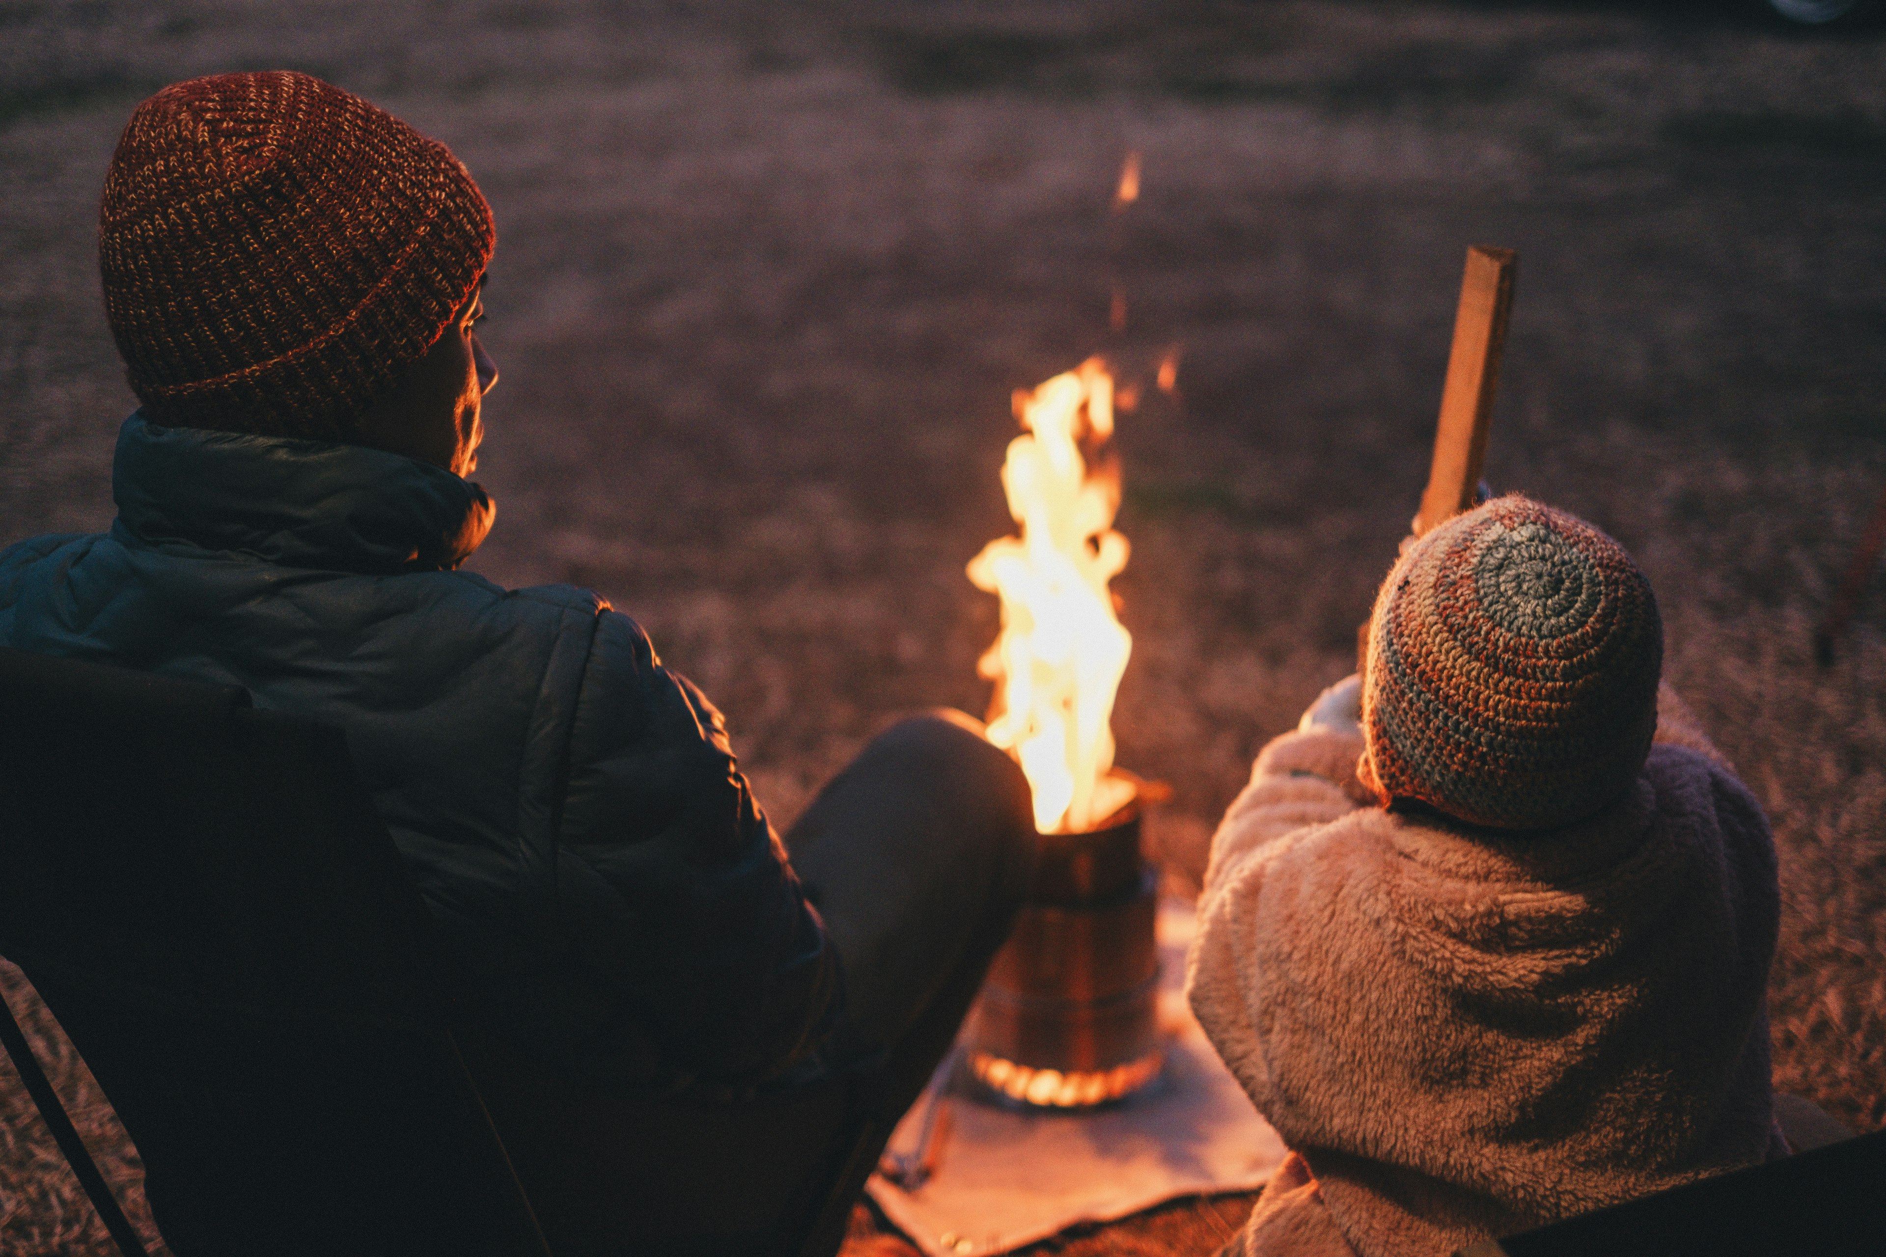
[{"label": "dry brownish grassy ground stretching behind the fire and two people", "polygon": [[[439,136],[498,215],[473,567],[639,618],[781,824],[894,714],[983,707],[962,567],[1009,528],[1009,394],[1107,352],[1145,392],[1120,763],[1173,784],[1152,841],[1196,876],[1352,667],[1465,245],[1518,249],[1488,477],[1648,571],[1780,844],[1777,1084],[1886,1125],[1886,579],[1811,654],[1886,490],[1882,38],[1684,4],[9,4],[0,545],[111,518],[92,232],[130,106],[270,66]],[[1205,1253],[1249,1200],[1201,1208],[1051,1249]]]}]

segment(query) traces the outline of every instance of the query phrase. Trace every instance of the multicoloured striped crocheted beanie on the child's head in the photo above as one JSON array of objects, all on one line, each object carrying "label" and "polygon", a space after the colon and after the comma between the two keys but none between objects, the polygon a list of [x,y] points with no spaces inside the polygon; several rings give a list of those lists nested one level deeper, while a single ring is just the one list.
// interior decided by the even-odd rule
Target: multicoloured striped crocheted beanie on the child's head
[{"label": "multicoloured striped crocheted beanie on the child's head", "polygon": [[1475,825],[1567,825],[1643,769],[1662,669],[1656,596],[1624,548],[1497,498],[1416,541],[1375,599],[1360,775]]}]

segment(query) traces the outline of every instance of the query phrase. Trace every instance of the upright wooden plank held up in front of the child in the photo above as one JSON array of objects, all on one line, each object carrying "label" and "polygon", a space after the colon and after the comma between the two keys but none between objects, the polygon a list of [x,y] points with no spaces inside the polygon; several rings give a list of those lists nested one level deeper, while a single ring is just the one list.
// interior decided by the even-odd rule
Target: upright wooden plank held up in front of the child
[{"label": "upright wooden plank held up in front of the child", "polygon": [[1414,516],[1416,537],[1475,505],[1516,271],[1518,253],[1513,249],[1467,249],[1460,309],[1454,313],[1454,349],[1441,390],[1441,422],[1433,433],[1433,464]]}]

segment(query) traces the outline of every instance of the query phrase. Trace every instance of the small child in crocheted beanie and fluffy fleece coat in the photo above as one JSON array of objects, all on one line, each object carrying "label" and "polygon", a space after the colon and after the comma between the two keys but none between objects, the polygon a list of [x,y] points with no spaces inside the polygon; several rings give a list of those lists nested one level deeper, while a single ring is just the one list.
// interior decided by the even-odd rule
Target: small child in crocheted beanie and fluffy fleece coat
[{"label": "small child in crocheted beanie and fluffy fleece coat", "polygon": [[1662,656],[1630,556],[1526,498],[1396,563],[1365,680],[1213,839],[1192,1008],[1294,1150],[1228,1255],[1452,1253],[1786,1151],[1773,841]]}]

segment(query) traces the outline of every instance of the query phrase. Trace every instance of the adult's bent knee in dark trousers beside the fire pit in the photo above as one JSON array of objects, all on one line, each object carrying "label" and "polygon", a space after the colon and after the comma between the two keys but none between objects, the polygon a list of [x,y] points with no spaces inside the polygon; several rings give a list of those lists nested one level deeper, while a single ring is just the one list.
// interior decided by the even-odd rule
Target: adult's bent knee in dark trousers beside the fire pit
[{"label": "adult's bent knee in dark trousers beside the fire pit", "polygon": [[834,1055],[886,1052],[898,1110],[922,1091],[1028,893],[1028,782],[956,712],[892,726],[786,835],[845,965]]}]

